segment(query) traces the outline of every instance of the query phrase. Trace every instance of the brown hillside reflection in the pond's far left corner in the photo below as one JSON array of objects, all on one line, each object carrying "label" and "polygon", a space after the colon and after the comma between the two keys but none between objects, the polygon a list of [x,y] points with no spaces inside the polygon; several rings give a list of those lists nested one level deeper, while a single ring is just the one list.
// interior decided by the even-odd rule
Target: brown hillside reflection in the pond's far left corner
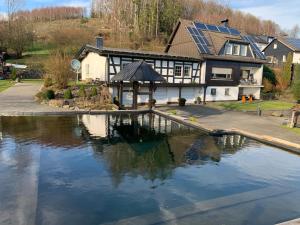
[{"label": "brown hillside reflection in the pond's far left corner", "polygon": [[17,142],[37,142],[53,147],[83,144],[77,117],[2,117],[3,135]]}]

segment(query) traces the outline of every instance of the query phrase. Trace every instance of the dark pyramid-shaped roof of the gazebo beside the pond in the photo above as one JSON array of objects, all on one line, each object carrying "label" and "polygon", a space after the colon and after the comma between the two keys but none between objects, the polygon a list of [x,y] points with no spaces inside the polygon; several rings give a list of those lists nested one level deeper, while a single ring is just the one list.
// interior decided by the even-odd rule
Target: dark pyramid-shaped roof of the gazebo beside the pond
[{"label": "dark pyramid-shaped roof of the gazebo beside the pond", "polygon": [[126,65],[123,70],[112,78],[112,81],[165,82],[166,80],[151,65],[141,60]]}]

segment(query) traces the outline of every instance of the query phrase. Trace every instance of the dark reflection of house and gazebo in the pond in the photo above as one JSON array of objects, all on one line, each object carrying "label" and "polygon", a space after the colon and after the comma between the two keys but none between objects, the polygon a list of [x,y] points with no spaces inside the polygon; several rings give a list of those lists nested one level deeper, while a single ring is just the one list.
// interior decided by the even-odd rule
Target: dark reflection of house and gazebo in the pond
[{"label": "dark reflection of house and gazebo in the pond", "polygon": [[124,176],[165,180],[176,167],[220,162],[245,142],[241,136],[210,136],[154,114],[86,115],[82,123],[116,185]]}]

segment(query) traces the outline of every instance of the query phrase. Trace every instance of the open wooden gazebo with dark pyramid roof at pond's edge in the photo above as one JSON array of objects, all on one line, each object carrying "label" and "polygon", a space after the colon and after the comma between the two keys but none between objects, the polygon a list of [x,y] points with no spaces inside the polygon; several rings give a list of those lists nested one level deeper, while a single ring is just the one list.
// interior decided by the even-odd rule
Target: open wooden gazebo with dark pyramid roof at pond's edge
[{"label": "open wooden gazebo with dark pyramid roof at pond's edge", "polygon": [[[133,101],[132,108],[137,109],[138,95],[149,95],[149,103],[153,100],[154,84],[156,82],[166,82],[165,78],[156,72],[151,65],[145,61],[137,61],[125,66],[117,75],[112,78],[112,82],[118,82],[118,99],[123,105],[124,82],[132,84]],[[149,92],[139,92],[140,82],[149,84]],[[149,104],[151,107],[151,104]]]}]

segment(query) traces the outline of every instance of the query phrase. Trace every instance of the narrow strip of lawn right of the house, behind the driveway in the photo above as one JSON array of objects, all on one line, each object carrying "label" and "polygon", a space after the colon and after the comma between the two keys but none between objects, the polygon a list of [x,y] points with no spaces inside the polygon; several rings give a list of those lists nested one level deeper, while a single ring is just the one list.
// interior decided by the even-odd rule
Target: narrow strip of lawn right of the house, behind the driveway
[{"label": "narrow strip of lawn right of the house, behind the driveway", "polygon": [[288,110],[291,109],[295,104],[284,101],[256,101],[253,103],[242,103],[242,102],[222,102],[212,103],[212,106],[223,108],[227,110],[238,110],[238,111],[255,111],[259,107],[261,110]]}]

